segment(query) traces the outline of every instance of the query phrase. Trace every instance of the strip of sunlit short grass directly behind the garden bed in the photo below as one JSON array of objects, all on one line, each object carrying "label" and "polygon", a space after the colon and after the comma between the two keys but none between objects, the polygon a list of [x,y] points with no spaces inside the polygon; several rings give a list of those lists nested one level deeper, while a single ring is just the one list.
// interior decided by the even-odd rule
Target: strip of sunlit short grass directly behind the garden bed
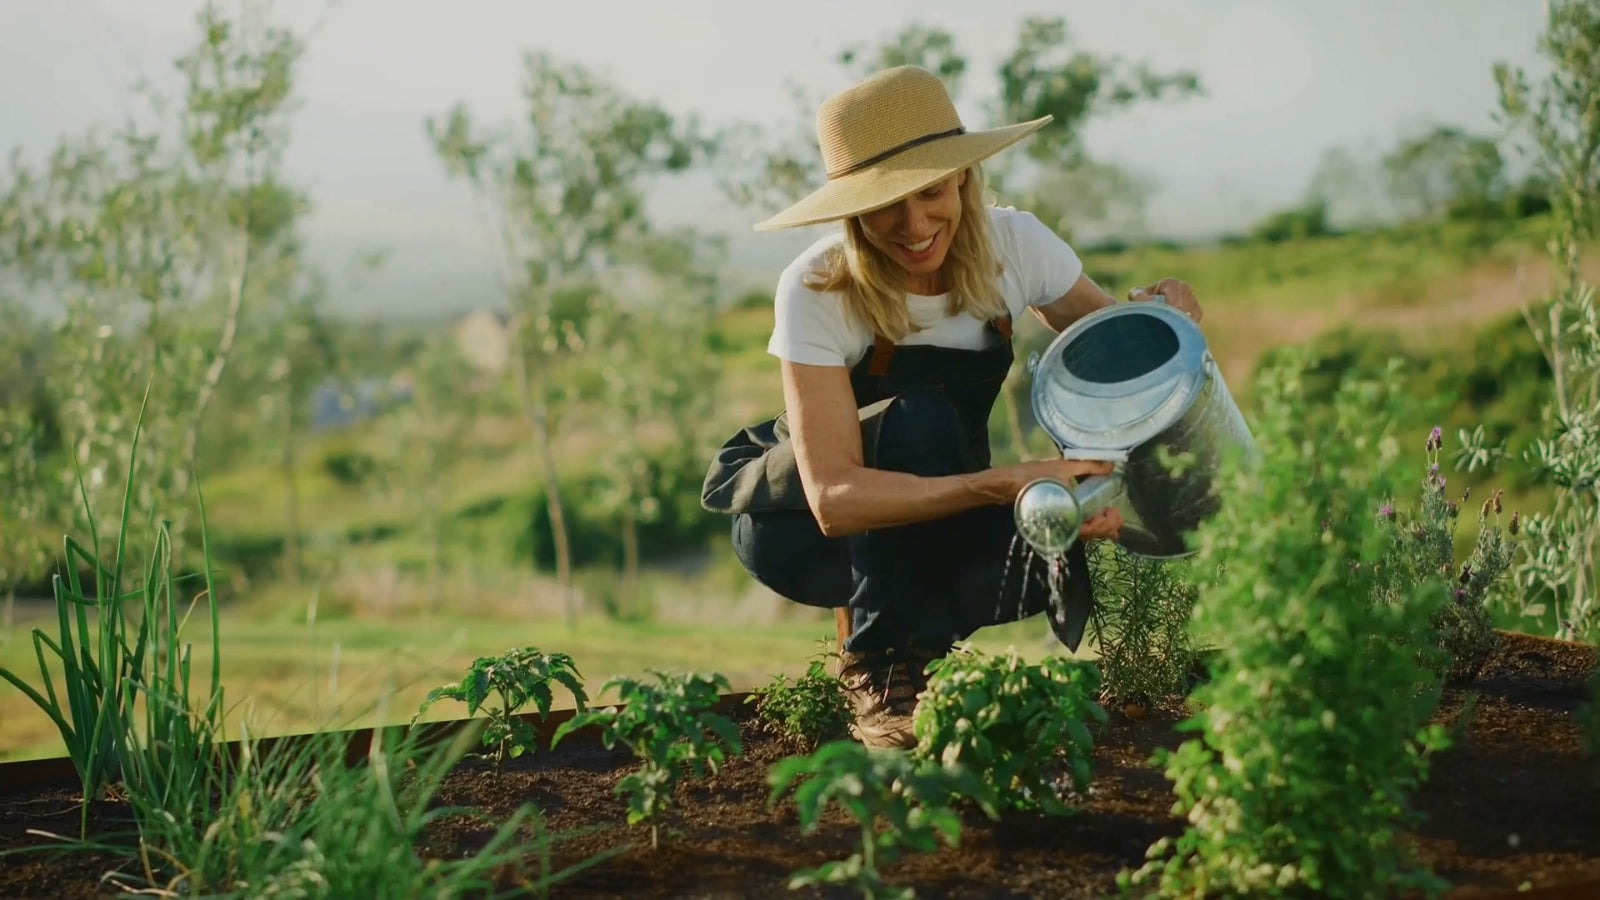
[{"label": "strip of sunlit short grass directly behind the garden bed", "polygon": [[[29,626],[30,623],[21,623]],[[235,703],[226,711],[229,737],[250,722],[251,733],[309,732],[405,722],[427,692],[461,677],[472,660],[534,645],[570,653],[586,684],[614,674],[640,676],[646,668],[720,671],[734,690],[765,684],[776,673],[798,676],[816,652],[816,641],[832,637],[832,618],[814,615],[778,625],[618,623],[584,617],[570,633],[560,617],[512,620],[504,615],[464,618],[405,617],[291,623],[245,612],[221,615],[221,677]],[[1048,644],[1043,621],[990,628],[978,636],[989,649],[1018,644],[1027,655]],[[186,639],[195,645],[192,665],[210,669],[210,628],[192,621]],[[0,668],[22,669],[32,661],[24,641],[0,645]],[[608,697],[592,698],[605,703]],[[571,708],[557,692],[555,708]],[[466,706],[438,703],[422,719],[458,719]],[[61,756],[54,725],[21,692],[0,693],[0,759]]]}]

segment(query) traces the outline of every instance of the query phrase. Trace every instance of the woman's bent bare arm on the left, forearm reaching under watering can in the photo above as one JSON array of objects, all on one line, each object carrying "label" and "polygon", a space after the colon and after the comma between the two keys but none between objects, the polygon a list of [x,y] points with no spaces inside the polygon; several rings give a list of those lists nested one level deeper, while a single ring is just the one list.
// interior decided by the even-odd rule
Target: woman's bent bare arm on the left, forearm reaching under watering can
[{"label": "woman's bent bare arm on the left, forearm reaching under watering can", "polygon": [[922,477],[867,468],[850,373],[784,360],[784,407],[800,482],[827,536],[926,522],[1016,500],[1035,477],[1104,474],[1110,463],[1045,460],[960,476]]}]

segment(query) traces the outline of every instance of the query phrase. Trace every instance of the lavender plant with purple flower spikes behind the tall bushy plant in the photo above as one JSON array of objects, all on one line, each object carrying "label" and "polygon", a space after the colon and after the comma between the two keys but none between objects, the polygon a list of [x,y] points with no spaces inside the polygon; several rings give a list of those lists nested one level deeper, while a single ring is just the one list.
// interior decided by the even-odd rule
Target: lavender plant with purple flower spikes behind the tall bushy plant
[{"label": "lavender plant with purple flower spikes behind the tall bushy plant", "polygon": [[[1456,569],[1456,525],[1472,488],[1464,490],[1459,500],[1448,498],[1446,479],[1438,471],[1442,447],[1442,429],[1435,426],[1426,442],[1427,476],[1410,512],[1400,514],[1392,501],[1376,509],[1379,524],[1389,530],[1389,546],[1378,562],[1376,589],[1381,601],[1403,602],[1419,585],[1438,583],[1443,577],[1440,586],[1448,591],[1448,599],[1434,615],[1434,636],[1442,655],[1434,660],[1450,681],[1470,682],[1499,647],[1490,596],[1512,565],[1514,544],[1507,536],[1515,535],[1515,525],[1510,532],[1501,527],[1501,492],[1493,492],[1478,509],[1472,552]],[[1512,519],[1515,522],[1515,516]]]}]

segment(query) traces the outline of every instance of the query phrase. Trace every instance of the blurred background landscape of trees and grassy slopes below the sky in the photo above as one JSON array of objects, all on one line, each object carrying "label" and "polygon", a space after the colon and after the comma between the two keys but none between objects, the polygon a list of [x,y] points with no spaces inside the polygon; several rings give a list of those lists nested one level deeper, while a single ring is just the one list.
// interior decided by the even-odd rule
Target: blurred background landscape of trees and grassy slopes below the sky
[{"label": "blurred background landscape of trees and grassy slopes below the sky", "polygon": [[[0,171],[0,666],[37,671],[29,629],[53,628],[51,577],[62,535],[90,540],[85,504],[114,540],[149,389],[130,559],[142,564],[168,519],[176,569],[202,569],[197,474],[235,724],[405,721],[472,658],[514,645],[571,653],[595,684],[648,666],[722,671],[734,689],[803,671],[832,618],[755,585],[728,522],[699,508],[712,450],[781,407],[765,343],[782,261],[736,261],[723,232],[659,221],[645,200],[674,179],[717,181],[725,207],[754,219],[808,184],[808,112],[706,125],[531,35],[504,122],[448,104],[413,122],[448,191],[485,213],[474,240],[496,263],[480,272],[494,290],[470,309],[352,312],[344,298],[395,261],[330,266],[307,237],[322,186],[291,152],[301,69],[318,53],[302,13],[200,10],[176,67],[142,62],[184,102],[139,94],[128,125],[64,130]],[[1400,357],[1418,485],[1434,424],[1451,437],[1482,426],[1504,463],[1451,484],[1501,487],[1509,509],[1550,503],[1522,461],[1550,391],[1523,319],[1555,283],[1550,203],[1514,141],[1485,122],[1427,120],[1370,152],[1336,141],[1277,208],[1166,235],[1147,215],[1162,173],[1118,168],[1085,135],[1202,102],[1205,67],[1126,62],[1142,54],[1032,13],[1002,35],[1003,58],[968,56],[958,18],[862,24],[821,56],[838,77],[894,61],[994,70],[994,117],[1056,114],[1035,151],[992,173],[997,199],[1038,210],[1118,296],[1190,282],[1246,415],[1251,375],[1277,348],[1315,348],[1330,383]],[[1530,42],[1536,24],[1534,11]],[[1075,66],[1101,77],[1059,77]],[[1494,106],[1483,85],[1454,90],[1485,117]],[[1600,274],[1592,247],[1582,267]],[[1022,372],[1048,338],[1035,322],[1019,331],[990,423],[997,461],[1050,452]],[[1318,384],[1309,410],[1326,399]],[[197,653],[208,647],[203,623],[190,634]],[[978,639],[1054,649],[1042,621]],[[59,751],[50,721],[0,689],[0,757]]]}]

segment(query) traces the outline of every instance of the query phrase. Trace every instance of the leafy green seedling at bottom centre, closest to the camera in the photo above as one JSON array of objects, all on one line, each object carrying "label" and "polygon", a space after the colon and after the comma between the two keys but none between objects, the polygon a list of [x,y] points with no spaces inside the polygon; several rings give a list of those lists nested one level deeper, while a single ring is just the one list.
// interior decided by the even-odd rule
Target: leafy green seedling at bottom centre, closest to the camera
[{"label": "leafy green seedling at bottom centre, closest to the camera", "polygon": [[861,830],[861,850],[845,860],[795,871],[789,887],[845,884],[867,900],[914,897],[909,887],[885,884],[878,866],[902,852],[931,854],[942,839],[955,847],[962,818],[955,798],[997,818],[990,790],[970,769],[941,764],[899,749],[867,748],[851,740],[829,741],[810,756],[790,756],[768,772],[773,806],[790,788],[800,831],[816,830],[830,804],[838,804]]}]

